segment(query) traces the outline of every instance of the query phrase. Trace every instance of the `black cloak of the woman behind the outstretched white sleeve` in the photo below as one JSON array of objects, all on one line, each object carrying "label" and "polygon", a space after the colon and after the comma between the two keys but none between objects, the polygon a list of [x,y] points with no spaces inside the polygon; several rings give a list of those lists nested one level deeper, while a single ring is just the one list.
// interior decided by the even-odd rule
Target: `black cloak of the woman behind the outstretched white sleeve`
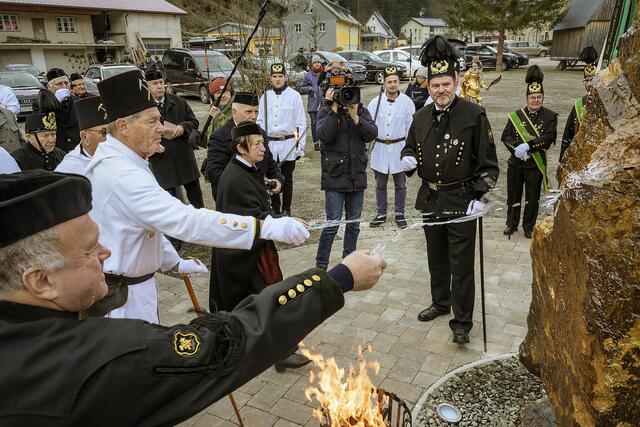
[{"label": "black cloak of the woman behind the outstretched white sleeve", "polygon": [[[264,175],[251,170],[236,157],[231,159],[218,183],[216,209],[258,219],[272,215]],[[266,283],[258,273],[257,265],[266,245],[275,249],[273,242],[262,239],[256,239],[248,251],[213,249],[211,289],[219,309],[231,310],[247,296],[264,289]]]}]

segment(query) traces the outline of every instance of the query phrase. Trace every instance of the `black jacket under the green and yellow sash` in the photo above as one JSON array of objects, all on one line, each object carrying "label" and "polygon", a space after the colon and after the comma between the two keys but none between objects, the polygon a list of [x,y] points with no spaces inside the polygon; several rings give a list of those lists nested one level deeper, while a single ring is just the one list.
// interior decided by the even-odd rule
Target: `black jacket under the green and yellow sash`
[{"label": "black jacket under the green and yellow sash", "polygon": [[[533,125],[538,129],[540,136],[535,137],[529,142],[529,153],[540,152],[545,164],[547,163],[546,150],[551,147],[551,144],[555,144],[557,129],[558,129],[558,115],[553,111],[545,107],[540,107],[538,111],[532,113],[525,107],[524,111],[527,113]],[[533,136],[533,135],[532,135]],[[529,155],[526,161],[522,161],[513,154],[516,147],[522,144],[524,141],[520,138],[518,131],[511,123],[511,120],[507,119],[507,125],[502,132],[502,143],[507,150],[511,153],[509,157],[509,164],[518,166],[521,169],[537,169],[536,161]]]}]

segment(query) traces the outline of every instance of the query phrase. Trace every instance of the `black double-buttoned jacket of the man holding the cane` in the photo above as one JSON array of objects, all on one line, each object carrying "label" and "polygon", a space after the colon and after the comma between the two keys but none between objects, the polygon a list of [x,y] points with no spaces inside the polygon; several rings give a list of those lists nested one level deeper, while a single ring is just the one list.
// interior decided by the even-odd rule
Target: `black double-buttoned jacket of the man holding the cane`
[{"label": "black double-buttoned jacket of the man holding the cane", "polygon": [[[498,179],[493,133],[484,108],[477,104],[456,97],[439,124],[434,110],[435,104],[429,104],[413,115],[401,156],[418,160],[422,185],[416,209],[430,217],[459,217],[466,214],[471,200],[482,197]],[[429,183],[445,186],[435,189]]]}]

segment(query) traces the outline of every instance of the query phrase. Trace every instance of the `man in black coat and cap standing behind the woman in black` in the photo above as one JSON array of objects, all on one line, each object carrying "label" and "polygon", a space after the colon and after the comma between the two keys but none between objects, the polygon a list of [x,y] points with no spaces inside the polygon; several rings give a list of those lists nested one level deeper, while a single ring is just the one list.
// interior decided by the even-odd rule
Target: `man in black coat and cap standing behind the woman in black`
[{"label": "man in black coat and cap standing behind the woman in black", "polygon": [[[211,182],[211,192],[216,198],[218,181],[222,172],[233,158],[235,152],[231,147],[231,130],[234,126],[244,121],[255,122],[258,118],[258,97],[250,92],[237,92],[231,104],[231,118],[227,122],[213,131],[207,145],[207,166],[206,175]],[[264,133],[264,131],[263,131]],[[266,140],[266,134],[264,135]],[[269,146],[264,160],[256,164],[256,168],[265,178],[276,180],[275,188],[271,191],[274,194],[280,193],[284,184],[284,177],[280,173],[278,163],[275,161]]]}]

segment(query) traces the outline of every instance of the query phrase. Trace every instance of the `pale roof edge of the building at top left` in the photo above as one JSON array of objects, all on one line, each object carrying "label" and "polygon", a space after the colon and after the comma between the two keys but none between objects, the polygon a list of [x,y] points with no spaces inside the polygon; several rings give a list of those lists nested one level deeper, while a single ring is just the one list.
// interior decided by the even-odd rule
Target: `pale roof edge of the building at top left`
[{"label": "pale roof edge of the building at top left", "polygon": [[187,12],[165,0],[0,0],[0,6],[40,6],[70,9],[96,9],[142,13],[186,15]]}]

